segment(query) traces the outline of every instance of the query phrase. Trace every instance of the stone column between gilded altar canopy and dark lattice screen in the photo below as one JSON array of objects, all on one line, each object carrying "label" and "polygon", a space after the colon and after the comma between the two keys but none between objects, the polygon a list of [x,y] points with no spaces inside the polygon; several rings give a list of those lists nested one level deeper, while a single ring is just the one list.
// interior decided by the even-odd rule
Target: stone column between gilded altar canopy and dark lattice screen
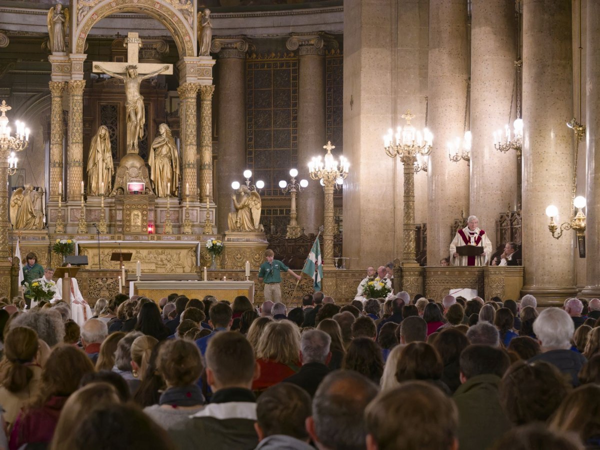
[{"label": "stone column between gilded altar canopy and dark lattice screen", "polygon": [[231,183],[246,168],[246,52],[243,36],[214,38],[212,52],[218,53],[218,184],[217,230],[227,231],[232,211]]}]

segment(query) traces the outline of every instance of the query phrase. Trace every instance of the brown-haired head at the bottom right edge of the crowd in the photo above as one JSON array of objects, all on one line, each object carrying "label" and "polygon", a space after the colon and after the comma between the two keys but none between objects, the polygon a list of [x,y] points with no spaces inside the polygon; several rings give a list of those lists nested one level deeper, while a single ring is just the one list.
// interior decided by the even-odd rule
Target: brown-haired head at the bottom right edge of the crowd
[{"label": "brown-haired head at the bottom right edge of the crowd", "polygon": [[577,433],[581,442],[600,437],[600,386],[588,384],[571,391],[548,424],[551,430]]}]

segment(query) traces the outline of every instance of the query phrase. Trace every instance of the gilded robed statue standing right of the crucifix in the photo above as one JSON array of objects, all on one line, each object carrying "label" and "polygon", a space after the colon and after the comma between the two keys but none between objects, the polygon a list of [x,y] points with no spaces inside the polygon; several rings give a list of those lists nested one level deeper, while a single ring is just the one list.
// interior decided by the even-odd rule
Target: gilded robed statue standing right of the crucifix
[{"label": "gilded robed statue standing right of the crucifix", "polygon": [[157,197],[167,197],[170,183],[170,195],[178,195],[179,156],[171,129],[166,123],[158,126],[158,136],[152,142],[152,151],[148,156],[150,179],[154,184]]}]

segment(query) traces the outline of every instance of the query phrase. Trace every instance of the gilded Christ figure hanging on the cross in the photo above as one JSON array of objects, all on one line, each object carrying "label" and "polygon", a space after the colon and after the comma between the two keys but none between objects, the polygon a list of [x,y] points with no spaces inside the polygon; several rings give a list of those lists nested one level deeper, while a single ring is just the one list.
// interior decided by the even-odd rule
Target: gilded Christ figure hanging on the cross
[{"label": "gilded Christ figure hanging on the cross", "polygon": [[125,102],[125,108],[127,109],[127,153],[137,153],[137,141],[143,138],[144,124],[146,123],[144,116],[144,98],[140,94],[140,84],[142,83],[142,80],[146,80],[146,78],[155,77],[156,75],[169,70],[169,66],[166,65],[163,68],[146,75],[138,75],[136,65],[128,65],[125,67],[125,73],[115,73],[102,68],[98,64],[94,66],[94,69],[103,71],[111,77],[125,81],[125,98],[127,100]]}]

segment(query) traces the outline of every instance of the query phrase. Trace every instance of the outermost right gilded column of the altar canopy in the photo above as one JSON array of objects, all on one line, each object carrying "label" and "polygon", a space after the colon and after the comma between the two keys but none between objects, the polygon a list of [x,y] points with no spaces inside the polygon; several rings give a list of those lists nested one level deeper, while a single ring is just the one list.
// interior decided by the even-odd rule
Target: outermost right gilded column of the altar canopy
[{"label": "outermost right gilded column of the altar canopy", "polygon": [[[212,199],[212,94],[214,92],[213,84],[200,86],[200,200],[202,201],[206,197]],[[196,108],[194,108],[193,120],[196,120]],[[195,139],[194,136],[194,141]],[[206,185],[209,191],[206,191]]]}]

